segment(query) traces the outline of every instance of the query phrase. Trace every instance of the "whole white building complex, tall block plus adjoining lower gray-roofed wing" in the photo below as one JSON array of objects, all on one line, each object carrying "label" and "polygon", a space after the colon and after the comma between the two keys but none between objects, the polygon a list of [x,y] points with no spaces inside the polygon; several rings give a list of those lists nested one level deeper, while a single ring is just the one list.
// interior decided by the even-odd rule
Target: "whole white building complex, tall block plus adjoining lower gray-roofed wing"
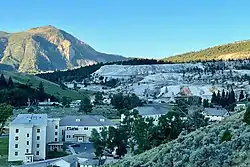
[{"label": "whole white building complex, tall block plus adjoining lower gray-roofed wing", "polygon": [[47,118],[46,114],[19,114],[10,123],[8,161],[33,162],[46,158],[48,150],[63,142],[89,142],[91,132],[115,126],[103,116],[84,115]]}]

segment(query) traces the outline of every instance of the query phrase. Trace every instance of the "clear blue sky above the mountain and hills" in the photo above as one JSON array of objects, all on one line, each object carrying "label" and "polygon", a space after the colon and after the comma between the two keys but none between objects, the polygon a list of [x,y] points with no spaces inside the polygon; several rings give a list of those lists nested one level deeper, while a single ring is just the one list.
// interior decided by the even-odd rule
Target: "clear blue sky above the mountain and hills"
[{"label": "clear blue sky above the mountain and hills", "polygon": [[0,30],[63,29],[98,51],[163,58],[250,39],[248,0],[2,0]]}]

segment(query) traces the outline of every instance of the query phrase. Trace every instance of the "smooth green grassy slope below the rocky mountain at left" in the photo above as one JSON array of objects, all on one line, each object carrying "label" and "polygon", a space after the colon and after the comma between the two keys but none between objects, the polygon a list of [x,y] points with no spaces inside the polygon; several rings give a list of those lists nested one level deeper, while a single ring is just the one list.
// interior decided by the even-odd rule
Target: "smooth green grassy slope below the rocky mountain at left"
[{"label": "smooth green grassy slope below the rocky mountain at left", "polygon": [[33,88],[37,88],[39,83],[42,81],[45,92],[48,94],[54,95],[56,97],[59,97],[59,98],[66,96],[72,99],[81,99],[83,95],[88,94],[88,92],[84,92],[84,91],[77,92],[77,91],[67,90],[67,89],[63,90],[62,88],[60,88],[58,84],[55,84],[53,82],[47,81],[45,79],[42,79],[36,76],[24,74],[24,73],[14,73],[14,72],[7,72],[7,71],[4,71],[3,73],[6,76],[6,78],[11,76],[14,82],[18,82],[21,84],[27,84],[28,82],[30,82]]}]

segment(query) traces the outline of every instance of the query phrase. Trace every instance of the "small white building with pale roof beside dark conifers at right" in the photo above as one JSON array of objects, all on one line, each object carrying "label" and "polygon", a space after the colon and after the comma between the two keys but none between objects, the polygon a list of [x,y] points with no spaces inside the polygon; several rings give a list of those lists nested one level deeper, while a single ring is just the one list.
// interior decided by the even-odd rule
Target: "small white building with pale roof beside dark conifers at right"
[{"label": "small white building with pale roof beside dark conifers at right", "polygon": [[229,116],[229,113],[226,109],[222,107],[216,108],[205,108],[203,115],[205,118],[208,118],[211,122],[222,121],[225,117]]}]

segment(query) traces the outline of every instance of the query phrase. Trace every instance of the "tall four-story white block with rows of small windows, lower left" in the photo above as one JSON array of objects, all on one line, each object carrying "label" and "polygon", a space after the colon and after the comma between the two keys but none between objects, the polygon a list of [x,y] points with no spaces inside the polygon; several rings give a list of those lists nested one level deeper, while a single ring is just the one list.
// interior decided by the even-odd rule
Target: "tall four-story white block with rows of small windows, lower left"
[{"label": "tall four-story white block with rows of small windows, lower left", "polygon": [[9,161],[32,162],[46,157],[46,114],[20,114],[10,124]]}]

